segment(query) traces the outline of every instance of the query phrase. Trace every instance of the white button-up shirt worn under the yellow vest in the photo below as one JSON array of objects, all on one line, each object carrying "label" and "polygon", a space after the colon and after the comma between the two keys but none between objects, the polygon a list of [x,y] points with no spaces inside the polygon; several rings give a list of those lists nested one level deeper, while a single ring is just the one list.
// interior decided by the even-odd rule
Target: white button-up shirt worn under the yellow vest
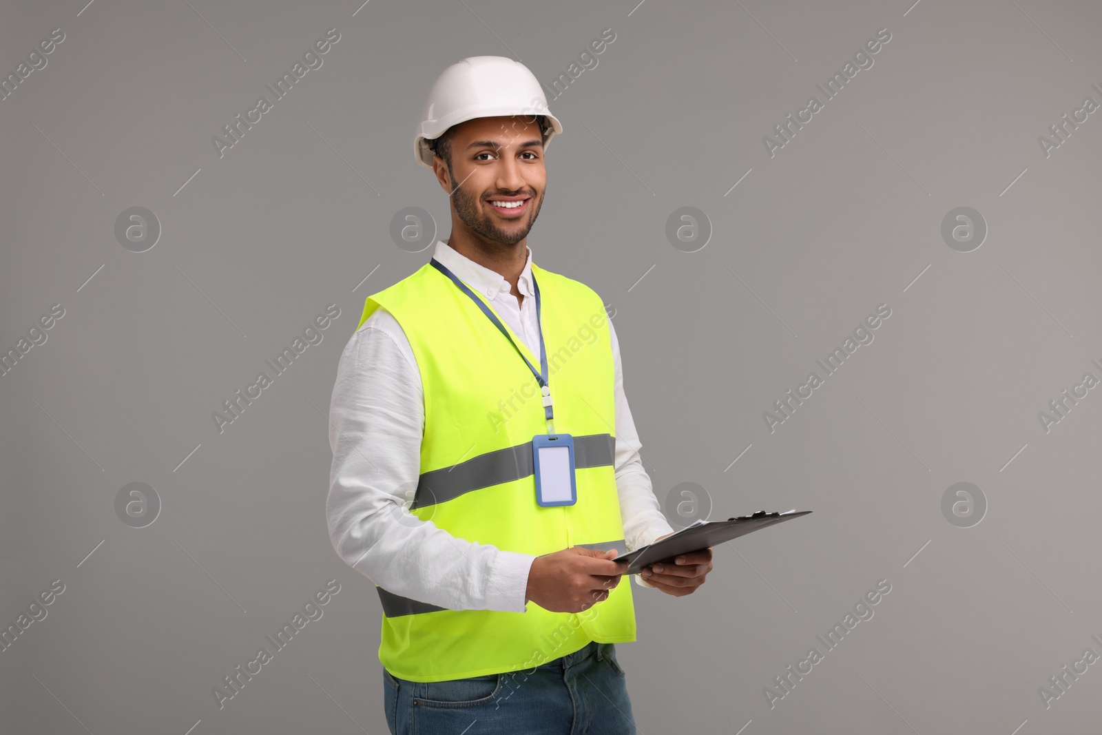
[{"label": "white button-up shirt worn under the yellow vest", "polygon": [[[499,273],[443,240],[436,242],[434,257],[485,295],[540,355],[530,249],[517,282],[520,304]],[[639,458],[641,445],[624,396],[611,320],[608,331],[616,371],[616,489],[625,545],[633,551],[673,529]],[[329,402],[333,465],[325,512],[333,548],[348,565],[396,595],[449,609],[525,612],[536,556],[467,541],[409,512],[421,474],[423,433],[424,392],[413,350],[398,321],[380,307],[345,346]],[[635,577],[641,586],[653,586],[641,575]]]}]

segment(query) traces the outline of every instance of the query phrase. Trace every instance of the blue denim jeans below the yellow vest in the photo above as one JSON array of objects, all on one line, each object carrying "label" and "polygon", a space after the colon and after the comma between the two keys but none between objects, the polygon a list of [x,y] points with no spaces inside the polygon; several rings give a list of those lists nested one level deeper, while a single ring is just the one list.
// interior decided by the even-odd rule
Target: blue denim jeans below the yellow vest
[{"label": "blue denim jeans below the yellow vest", "polygon": [[613,644],[523,671],[450,681],[399,679],[386,669],[393,735],[635,735],[631,701]]}]

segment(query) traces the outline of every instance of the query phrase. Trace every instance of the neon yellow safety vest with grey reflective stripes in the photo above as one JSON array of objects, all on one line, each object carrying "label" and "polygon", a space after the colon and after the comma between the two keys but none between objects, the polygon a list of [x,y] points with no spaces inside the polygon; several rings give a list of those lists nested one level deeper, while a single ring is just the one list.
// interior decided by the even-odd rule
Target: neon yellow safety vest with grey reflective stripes
[{"label": "neon yellow safety vest with grey reflective stripes", "polygon": [[[506,551],[538,556],[586,547],[624,554],[605,307],[585,284],[534,263],[531,270],[540,288],[554,428],[574,437],[577,501],[536,502],[531,439],[547,433],[547,425],[540,387],[517,347],[532,365],[539,366],[539,355],[511,329],[517,347],[509,344],[477,304],[425,264],[368,296],[359,322],[379,306],[390,312],[421,374],[424,436],[410,512],[457,538]],[[579,614],[551,613],[533,602],[525,613],[453,610],[377,590],[383,610],[379,661],[410,681],[527,670],[593,640],[636,639],[626,576],[607,599]]]}]

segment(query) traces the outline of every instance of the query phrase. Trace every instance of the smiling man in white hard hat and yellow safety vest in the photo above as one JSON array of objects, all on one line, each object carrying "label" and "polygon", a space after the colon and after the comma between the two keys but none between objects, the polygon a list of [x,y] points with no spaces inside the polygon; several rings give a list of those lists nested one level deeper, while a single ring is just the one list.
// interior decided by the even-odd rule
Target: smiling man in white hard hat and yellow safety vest
[{"label": "smiling man in white hard hat and yellow safety vest", "polygon": [[[367,299],[329,407],[329,536],[378,585],[387,723],[635,733],[614,648],[636,639],[635,614],[615,556],[672,529],[604,302],[527,246],[562,126],[500,56],[449,67],[422,119],[414,154],[450,195],[452,233]],[[636,579],[690,594],[711,556]]]}]

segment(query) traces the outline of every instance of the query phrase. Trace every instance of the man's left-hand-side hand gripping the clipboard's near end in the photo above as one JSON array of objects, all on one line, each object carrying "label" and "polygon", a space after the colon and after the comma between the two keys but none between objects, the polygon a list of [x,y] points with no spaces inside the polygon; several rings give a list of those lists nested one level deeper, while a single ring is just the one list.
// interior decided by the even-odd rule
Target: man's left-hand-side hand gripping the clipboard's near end
[{"label": "man's left-hand-side hand gripping the clipboard's near end", "polygon": [[537,556],[528,571],[525,602],[552,613],[581,613],[606,599],[619,583],[624,566],[613,561],[615,549],[571,547]]}]

